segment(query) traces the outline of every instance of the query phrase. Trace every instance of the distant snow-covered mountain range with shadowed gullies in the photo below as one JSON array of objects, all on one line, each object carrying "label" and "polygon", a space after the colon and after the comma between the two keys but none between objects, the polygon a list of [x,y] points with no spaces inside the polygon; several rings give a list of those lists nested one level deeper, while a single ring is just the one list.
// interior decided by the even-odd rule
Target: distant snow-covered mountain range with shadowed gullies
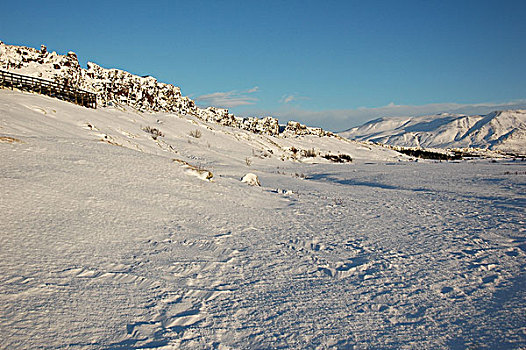
[{"label": "distant snow-covered mountain range with shadowed gullies", "polygon": [[526,110],[379,118],[339,135],[401,147],[473,147],[526,154]]}]

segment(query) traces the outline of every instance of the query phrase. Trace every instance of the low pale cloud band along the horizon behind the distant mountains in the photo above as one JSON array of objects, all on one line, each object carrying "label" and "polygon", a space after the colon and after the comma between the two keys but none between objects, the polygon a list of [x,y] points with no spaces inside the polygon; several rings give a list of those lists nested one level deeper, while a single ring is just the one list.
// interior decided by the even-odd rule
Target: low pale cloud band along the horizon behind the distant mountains
[{"label": "low pale cloud band along the horizon behind the distant mountains", "polygon": [[426,114],[458,113],[486,114],[502,109],[524,109],[526,99],[502,103],[434,103],[426,105],[397,105],[393,102],[382,107],[360,107],[357,109],[311,111],[295,107],[284,107],[272,114],[278,115],[281,122],[297,120],[312,126],[321,126],[328,130],[343,131],[380,117],[414,117]]}]

